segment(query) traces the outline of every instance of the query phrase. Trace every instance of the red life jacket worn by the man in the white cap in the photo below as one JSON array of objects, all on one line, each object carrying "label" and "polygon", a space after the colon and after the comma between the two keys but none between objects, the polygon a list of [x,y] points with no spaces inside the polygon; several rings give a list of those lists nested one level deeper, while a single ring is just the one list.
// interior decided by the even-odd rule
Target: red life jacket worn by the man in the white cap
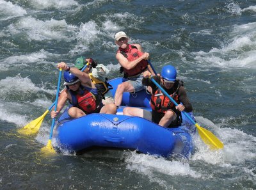
[{"label": "red life jacket worn by the man in the white cap", "polygon": [[[134,61],[143,55],[143,52],[139,51],[136,46],[129,44],[129,49],[122,49],[119,47],[116,53],[120,52],[128,61]],[[132,77],[144,72],[147,69],[148,61],[142,59],[134,68],[127,70],[124,67],[121,67],[120,71],[124,71],[124,78]]]}]

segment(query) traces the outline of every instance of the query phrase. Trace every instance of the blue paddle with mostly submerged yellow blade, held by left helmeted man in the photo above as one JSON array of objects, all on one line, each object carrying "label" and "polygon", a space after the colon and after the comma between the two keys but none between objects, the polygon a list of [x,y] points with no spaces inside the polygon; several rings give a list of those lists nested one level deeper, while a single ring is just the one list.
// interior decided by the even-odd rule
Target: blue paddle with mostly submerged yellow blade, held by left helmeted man
[{"label": "blue paddle with mostly submerged yellow blade, held by left helmeted man", "polygon": [[[58,87],[57,87],[57,92],[56,92],[56,100],[54,102],[54,111],[57,111],[57,105],[58,105],[58,98],[59,98],[59,91],[60,91],[60,81],[61,81],[61,69],[60,69],[60,73],[59,73],[59,79],[58,79]],[[52,126],[51,126],[51,132],[50,132],[50,136],[49,136],[49,140],[46,146],[44,146],[43,148],[41,148],[41,151],[44,154],[49,154],[49,153],[55,153],[54,148],[52,147],[52,132],[54,129],[54,124],[55,124],[55,118],[52,118]]]}]

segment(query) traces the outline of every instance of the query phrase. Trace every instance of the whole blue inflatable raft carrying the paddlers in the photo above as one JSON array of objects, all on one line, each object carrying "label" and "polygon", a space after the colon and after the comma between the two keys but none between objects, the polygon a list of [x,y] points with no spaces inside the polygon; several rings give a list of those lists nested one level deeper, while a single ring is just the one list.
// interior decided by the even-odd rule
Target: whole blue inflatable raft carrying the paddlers
[{"label": "whole blue inflatable raft carrying the paddlers", "polygon": [[[116,86],[124,80],[116,78],[109,81],[113,95]],[[124,93],[122,105],[150,110],[149,99],[150,95],[145,90],[135,95]],[[99,147],[122,148],[163,157],[188,157],[191,154],[193,143],[190,133],[195,131],[195,127],[186,120],[186,116],[182,117],[182,126],[168,129],[144,118],[122,115],[123,108],[118,108],[117,115],[93,113],[72,120],[66,110],[57,122],[55,148],[68,152],[84,152]]]}]

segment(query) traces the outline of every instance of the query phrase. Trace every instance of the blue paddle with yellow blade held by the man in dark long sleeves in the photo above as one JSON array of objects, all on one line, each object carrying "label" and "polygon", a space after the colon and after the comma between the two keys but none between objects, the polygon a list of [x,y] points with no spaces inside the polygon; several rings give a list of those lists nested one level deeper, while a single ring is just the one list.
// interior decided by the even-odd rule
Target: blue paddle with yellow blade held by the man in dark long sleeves
[{"label": "blue paddle with yellow blade held by the man in dark long sleeves", "polygon": [[[155,79],[152,77],[150,77],[150,79],[164,93],[164,95],[168,97],[168,99],[172,100],[175,106],[178,106],[177,102],[175,102],[175,100],[173,100],[173,98],[168,95],[168,93],[155,81]],[[218,138],[216,138],[212,132],[207,131],[207,129],[204,129],[203,127],[200,127],[200,125],[198,125],[198,123],[196,123],[185,111],[182,111],[182,113],[184,113],[184,115],[196,126],[199,136],[202,138],[205,144],[209,145],[211,149],[223,148],[223,143]]]}]

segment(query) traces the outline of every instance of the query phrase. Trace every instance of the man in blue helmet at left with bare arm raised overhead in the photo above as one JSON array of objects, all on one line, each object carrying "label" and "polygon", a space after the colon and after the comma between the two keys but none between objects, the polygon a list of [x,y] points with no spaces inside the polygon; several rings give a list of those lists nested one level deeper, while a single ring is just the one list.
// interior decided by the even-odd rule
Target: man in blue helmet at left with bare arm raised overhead
[{"label": "man in blue helmet at left with bare arm raised overhead", "polygon": [[67,100],[73,106],[68,109],[68,115],[72,118],[79,118],[90,113],[116,113],[115,104],[102,104],[101,95],[88,74],[76,67],[70,68],[64,62],[58,63],[57,67],[65,70],[63,76],[66,88],[60,93],[57,111],[51,111],[52,118],[58,115]]}]

